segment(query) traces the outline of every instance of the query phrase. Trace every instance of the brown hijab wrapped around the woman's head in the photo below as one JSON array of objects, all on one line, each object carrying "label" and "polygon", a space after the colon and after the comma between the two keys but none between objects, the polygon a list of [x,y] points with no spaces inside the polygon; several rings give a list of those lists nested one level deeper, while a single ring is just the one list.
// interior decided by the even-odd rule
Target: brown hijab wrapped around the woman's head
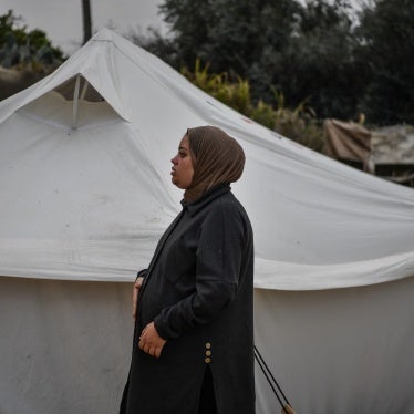
[{"label": "brown hijab wrapped around the woman's head", "polygon": [[245,167],[245,153],[235,138],[216,126],[198,126],[187,130],[194,176],[184,193],[184,199],[193,203],[208,189],[237,182]]}]

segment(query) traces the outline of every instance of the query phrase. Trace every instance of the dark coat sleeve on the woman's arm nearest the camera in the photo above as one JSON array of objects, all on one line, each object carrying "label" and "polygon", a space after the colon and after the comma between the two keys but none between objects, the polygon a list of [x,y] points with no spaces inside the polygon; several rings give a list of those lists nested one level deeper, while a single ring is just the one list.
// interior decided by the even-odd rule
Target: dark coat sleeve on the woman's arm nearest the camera
[{"label": "dark coat sleeve on the woman's arm nearest the camera", "polygon": [[163,339],[173,339],[217,318],[237,294],[245,246],[238,206],[220,203],[204,220],[197,246],[196,291],[154,319]]}]

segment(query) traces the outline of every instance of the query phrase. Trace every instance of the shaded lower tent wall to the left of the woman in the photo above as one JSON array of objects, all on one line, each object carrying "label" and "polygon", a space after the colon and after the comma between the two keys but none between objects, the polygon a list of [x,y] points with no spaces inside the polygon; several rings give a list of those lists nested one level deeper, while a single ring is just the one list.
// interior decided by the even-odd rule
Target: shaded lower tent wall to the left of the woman
[{"label": "shaded lower tent wall to the left of the woman", "polygon": [[117,413],[131,284],[0,278],[0,413]]}]

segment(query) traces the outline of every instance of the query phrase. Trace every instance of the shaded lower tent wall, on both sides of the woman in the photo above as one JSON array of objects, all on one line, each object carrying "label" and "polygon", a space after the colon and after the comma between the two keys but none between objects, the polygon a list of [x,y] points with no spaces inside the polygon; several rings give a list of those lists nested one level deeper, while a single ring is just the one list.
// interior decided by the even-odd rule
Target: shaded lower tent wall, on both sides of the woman
[{"label": "shaded lower tent wall, on both sides of the woman", "polygon": [[[413,291],[256,289],[256,345],[297,413],[414,412]],[[0,412],[116,413],[131,313],[131,283],[0,278]],[[256,394],[281,412],[258,368]]]}]

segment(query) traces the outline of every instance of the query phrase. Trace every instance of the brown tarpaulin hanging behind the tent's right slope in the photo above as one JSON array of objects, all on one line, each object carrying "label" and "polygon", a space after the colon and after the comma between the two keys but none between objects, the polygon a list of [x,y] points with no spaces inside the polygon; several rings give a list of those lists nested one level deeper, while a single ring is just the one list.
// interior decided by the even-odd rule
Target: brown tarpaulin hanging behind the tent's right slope
[{"label": "brown tarpaulin hanging behind the tent's right slope", "polygon": [[371,132],[360,124],[325,120],[323,123],[323,153],[332,158],[360,162],[369,172]]}]

